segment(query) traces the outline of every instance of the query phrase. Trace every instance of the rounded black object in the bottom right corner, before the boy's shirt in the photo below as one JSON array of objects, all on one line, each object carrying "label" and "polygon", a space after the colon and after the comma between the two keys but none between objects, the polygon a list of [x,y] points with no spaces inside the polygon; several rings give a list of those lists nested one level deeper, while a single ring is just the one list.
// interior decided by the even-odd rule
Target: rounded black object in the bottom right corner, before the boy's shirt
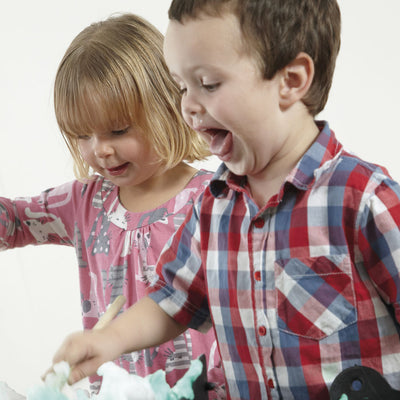
[{"label": "rounded black object in the bottom right corner, before the boy's shirt", "polygon": [[330,400],[339,400],[343,394],[349,400],[400,400],[400,391],[378,371],[359,365],[343,370],[333,381]]}]

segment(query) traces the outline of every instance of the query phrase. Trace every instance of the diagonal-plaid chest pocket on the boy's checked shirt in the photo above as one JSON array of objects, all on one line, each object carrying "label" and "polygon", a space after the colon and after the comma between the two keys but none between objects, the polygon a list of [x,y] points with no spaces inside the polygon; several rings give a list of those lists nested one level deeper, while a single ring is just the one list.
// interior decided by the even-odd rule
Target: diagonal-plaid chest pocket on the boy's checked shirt
[{"label": "diagonal-plaid chest pocket on the boy's checked shirt", "polygon": [[275,285],[281,331],[320,340],[357,320],[347,254],[277,260]]}]

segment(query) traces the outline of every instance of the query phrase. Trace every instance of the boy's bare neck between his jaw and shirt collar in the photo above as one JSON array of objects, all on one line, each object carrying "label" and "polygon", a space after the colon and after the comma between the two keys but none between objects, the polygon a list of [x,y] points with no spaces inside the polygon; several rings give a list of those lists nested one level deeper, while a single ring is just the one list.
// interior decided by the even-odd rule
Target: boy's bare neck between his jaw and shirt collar
[{"label": "boy's bare neck between his jaw and shirt collar", "polygon": [[279,193],[287,176],[313,144],[318,134],[319,129],[314,119],[305,120],[293,131],[292,135],[295,135],[298,140],[283,157],[271,160],[268,166],[257,175],[247,176],[251,196],[260,209],[267,205],[272,196]]}]

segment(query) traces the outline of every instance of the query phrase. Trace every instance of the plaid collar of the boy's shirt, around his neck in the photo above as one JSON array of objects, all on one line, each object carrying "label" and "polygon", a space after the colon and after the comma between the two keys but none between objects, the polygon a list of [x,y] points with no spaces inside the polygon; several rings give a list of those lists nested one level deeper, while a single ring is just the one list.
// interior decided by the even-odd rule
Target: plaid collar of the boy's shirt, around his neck
[{"label": "plaid collar of the boy's shirt, around his neck", "polygon": [[[292,183],[300,190],[305,190],[312,184],[316,169],[342,150],[342,145],[337,141],[329,124],[326,121],[316,121],[316,124],[320,130],[319,135],[286,178],[286,182]],[[226,195],[229,189],[243,191],[245,184],[245,176],[233,174],[222,163],[211,179],[210,190],[214,197],[221,197]]]}]

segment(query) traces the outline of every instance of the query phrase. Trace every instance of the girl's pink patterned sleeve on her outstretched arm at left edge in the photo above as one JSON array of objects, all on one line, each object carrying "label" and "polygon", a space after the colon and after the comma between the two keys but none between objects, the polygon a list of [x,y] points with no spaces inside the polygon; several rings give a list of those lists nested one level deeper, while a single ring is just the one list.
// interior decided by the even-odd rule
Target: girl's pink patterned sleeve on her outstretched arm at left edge
[{"label": "girl's pink patterned sleeve on her outstretched arm at left edge", "polygon": [[29,244],[72,245],[76,181],[35,197],[0,197],[0,250]]}]

